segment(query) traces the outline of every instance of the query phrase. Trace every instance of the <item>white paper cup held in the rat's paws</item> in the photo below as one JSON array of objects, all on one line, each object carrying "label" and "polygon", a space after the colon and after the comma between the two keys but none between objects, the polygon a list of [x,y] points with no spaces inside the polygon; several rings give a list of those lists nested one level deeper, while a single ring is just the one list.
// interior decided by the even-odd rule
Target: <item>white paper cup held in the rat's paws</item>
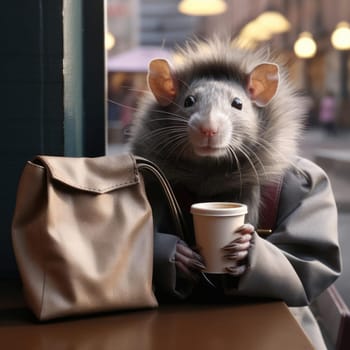
[{"label": "white paper cup held in the rat's paws", "polygon": [[232,202],[196,203],[191,206],[196,244],[209,273],[225,273],[232,262],[223,258],[222,248],[238,234],[234,232],[244,224],[248,208]]}]

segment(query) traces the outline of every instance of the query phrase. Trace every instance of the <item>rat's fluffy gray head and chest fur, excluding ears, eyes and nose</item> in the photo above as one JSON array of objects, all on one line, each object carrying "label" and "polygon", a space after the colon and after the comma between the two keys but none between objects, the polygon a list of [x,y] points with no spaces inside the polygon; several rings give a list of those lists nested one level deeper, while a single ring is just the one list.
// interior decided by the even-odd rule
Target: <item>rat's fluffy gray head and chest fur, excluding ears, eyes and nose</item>
[{"label": "rat's fluffy gray head and chest fur, excluding ears, eyes and nose", "polygon": [[[240,51],[215,39],[190,42],[178,54],[182,59],[174,65],[174,75],[180,93],[166,107],[151,94],[141,101],[131,129],[131,149],[157,163],[173,184],[182,184],[200,198],[246,203],[248,221],[257,225],[260,186],[283,173],[296,156],[305,115],[303,98],[279,65],[276,96],[266,107],[251,103],[245,92],[247,76],[258,64],[273,61],[266,51]],[[189,126],[193,111],[183,104],[196,89],[201,90],[196,106],[199,118],[206,118],[208,108],[214,107],[222,115],[220,127],[230,130],[230,147],[224,153],[200,156],[194,151]],[[231,107],[231,93],[242,98],[244,110]],[[224,130],[222,137],[226,137]]]}]

